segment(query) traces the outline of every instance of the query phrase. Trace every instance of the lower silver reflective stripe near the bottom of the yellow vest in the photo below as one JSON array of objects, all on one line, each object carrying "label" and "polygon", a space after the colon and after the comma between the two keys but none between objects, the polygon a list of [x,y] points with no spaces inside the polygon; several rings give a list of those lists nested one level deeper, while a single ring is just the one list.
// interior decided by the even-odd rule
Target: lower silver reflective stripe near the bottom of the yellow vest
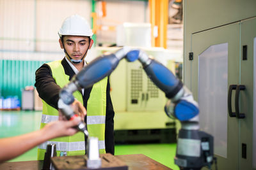
[{"label": "lower silver reflective stripe near the bottom of the yellow vest", "polygon": [[[78,142],[58,142],[58,141],[47,141],[38,146],[38,148],[45,150],[48,144],[55,144],[57,151],[76,151],[84,150],[84,141]],[[99,141],[99,149],[105,149],[105,141]]]}]

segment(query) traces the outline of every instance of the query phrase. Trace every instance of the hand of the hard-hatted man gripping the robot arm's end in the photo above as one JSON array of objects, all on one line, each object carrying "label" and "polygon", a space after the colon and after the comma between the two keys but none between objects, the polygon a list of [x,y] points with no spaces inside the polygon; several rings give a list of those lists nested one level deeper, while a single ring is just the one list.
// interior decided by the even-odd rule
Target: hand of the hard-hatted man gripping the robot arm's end
[{"label": "hand of the hard-hatted man gripping the robot arm's end", "polygon": [[[72,109],[74,112],[81,117],[81,120],[84,121],[84,117],[87,114],[86,109],[84,108],[83,104],[80,103],[75,99],[75,101],[71,104]],[[64,114],[59,110],[59,120],[67,120],[67,118],[64,116]]]}]

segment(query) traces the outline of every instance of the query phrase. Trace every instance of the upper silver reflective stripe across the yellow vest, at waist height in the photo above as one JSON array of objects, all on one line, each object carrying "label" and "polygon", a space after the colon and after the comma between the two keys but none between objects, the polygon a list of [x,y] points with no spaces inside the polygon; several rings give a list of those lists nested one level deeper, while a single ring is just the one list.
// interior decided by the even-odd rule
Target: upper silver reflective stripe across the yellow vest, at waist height
[{"label": "upper silver reflective stripe across the yellow vest, at waist height", "polygon": [[[51,115],[42,115],[41,123],[49,124],[50,122],[54,122],[58,120],[59,116],[51,116]],[[87,124],[105,124],[106,116],[87,116]]]}]

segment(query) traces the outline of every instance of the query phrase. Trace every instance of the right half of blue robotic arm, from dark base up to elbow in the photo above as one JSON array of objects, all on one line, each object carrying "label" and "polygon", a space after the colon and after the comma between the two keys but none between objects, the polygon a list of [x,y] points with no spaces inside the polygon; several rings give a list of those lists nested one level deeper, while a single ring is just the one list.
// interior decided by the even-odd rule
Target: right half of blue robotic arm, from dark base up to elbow
[{"label": "right half of blue robotic arm, from dark base up to elbow", "polygon": [[[134,51],[133,51],[134,52]],[[127,53],[127,58],[132,51]],[[181,129],[177,141],[175,164],[180,169],[211,167],[213,159],[213,137],[199,131],[198,104],[189,90],[173,73],[144,52],[138,55],[148,77],[163,90],[169,99],[164,107],[168,117],[177,118]]]}]

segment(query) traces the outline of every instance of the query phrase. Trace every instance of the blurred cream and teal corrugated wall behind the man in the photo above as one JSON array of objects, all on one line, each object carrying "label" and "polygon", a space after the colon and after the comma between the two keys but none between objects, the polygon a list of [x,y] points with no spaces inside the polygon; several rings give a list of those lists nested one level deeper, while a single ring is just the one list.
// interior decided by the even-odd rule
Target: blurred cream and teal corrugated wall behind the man
[{"label": "blurred cream and teal corrugated wall behind the man", "polygon": [[[92,25],[92,0],[0,0],[0,96],[17,95],[35,83],[35,71],[44,62],[62,59],[58,30],[65,18],[79,14]],[[100,25],[148,22],[148,1],[108,1]],[[95,45],[115,44],[116,32],[99,30]],[[88,54],[90,55],[90,53]]]}]

